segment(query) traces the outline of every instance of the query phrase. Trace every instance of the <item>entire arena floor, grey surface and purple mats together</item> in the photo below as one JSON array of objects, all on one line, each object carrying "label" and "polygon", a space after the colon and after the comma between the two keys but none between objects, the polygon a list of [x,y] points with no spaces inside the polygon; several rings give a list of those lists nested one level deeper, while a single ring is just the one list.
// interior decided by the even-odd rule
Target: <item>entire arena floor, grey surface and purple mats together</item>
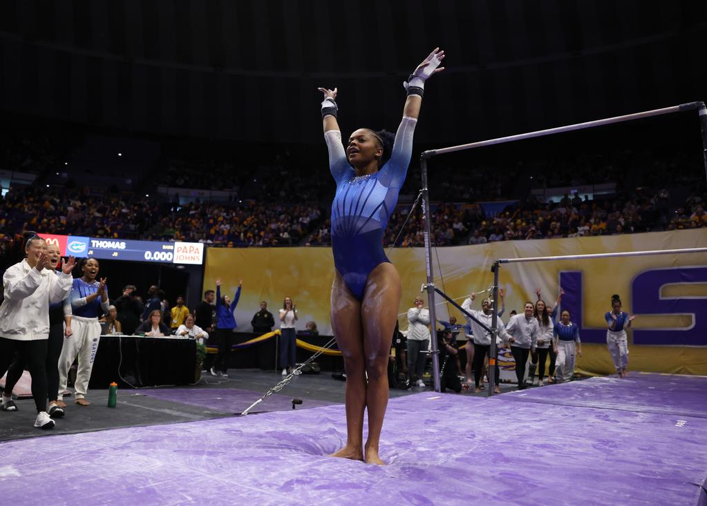
[{"label": "entire arena floor, grey surface and purple mats together", "polygon": [[[253,390],[238,380],[246,373]],[[117,409],[94,392],[95,404],[71,405],[49,437],[10,430],[19,425],[10,417],[32,411],[21,401],[21,411],[0,417],[4,497],[34,504],[28,490],[55,490],[52,504],[707,504],[707,378],[631,373],[504,389],[491,399],[392,390],[381,447],[388,465],[380,468],[327,457],[346,438],[344,383],[329,375],[296,378],[261,405],[267,412],[233,417],[276,380],[238,371],[195,389],[122,390]],[[291,397],[303,405],[293,411]]]}]

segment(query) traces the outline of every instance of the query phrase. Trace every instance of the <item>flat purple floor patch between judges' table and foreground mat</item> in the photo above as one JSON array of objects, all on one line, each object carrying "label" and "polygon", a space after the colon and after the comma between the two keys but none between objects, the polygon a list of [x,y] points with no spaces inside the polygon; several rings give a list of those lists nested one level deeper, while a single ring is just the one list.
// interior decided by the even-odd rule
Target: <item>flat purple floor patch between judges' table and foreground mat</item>
[{"label": "flat purple floor patch between judges' table and foreground mat", "polygon": [[[141,390],[141,394],[165,401],[182,402],[192,406],[201,406],[223,413],[240,413],[253,404],[262,395],[261,392],[251,390],[239,390],[237,388],[155,388],[151,390]],[[283,411],[292,409],[292,397],[286,395],[272,394],[253,410],[261,411]],[[315,401],[304,399],[304,402],[297,409],[329,406],[331,402]]]}]

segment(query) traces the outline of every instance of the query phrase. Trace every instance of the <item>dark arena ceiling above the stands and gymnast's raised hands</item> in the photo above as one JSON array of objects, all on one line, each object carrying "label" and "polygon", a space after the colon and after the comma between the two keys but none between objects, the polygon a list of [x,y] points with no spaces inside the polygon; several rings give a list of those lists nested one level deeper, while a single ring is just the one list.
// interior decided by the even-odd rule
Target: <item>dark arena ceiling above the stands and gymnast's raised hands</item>
[{"label": "dark arena ceiling above the stands and gymnast's raised hands", "polygon": [[320,142],[397,126],[435,46],[417,139],[448,145],[707,99],[707,3],[589,0],[13,0],[0,109],[80,124]]}]

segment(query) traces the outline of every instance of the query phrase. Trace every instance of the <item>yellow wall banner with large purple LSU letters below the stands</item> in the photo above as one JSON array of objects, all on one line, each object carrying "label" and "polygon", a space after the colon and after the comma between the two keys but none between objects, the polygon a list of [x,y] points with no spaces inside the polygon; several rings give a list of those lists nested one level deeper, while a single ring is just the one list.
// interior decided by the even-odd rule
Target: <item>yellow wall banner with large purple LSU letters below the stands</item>
[{"label": "yellow wall banner with large purple LSU letters below the stands", "polygon": [[[707,229],[584,237],[503,241],[433,251],[435,283],[457,303],[491,286],[491,265],[498,258],[583,255],[620,251],[698,248],[707,244]],[[439,257],[439,261],[438,261]],[[390,260],[402,278],[399,323],[407,328],[407,309],[426,282],[423,248],[395,248]],[[243,292],[235,310],[239,330],[250,331],[250,320],[266,301],[276,322],[286,296],[298,309],[298,328],[317,323],[322,335],[331,335],[329,294],[334,279],[330,248],[208,248],[204,289],[215,289],[221,278],[223,294],[233,296],[238,279]],[[499,284],[506,289],[508,322],[511,310],[522,311],[537,300],[535,289],[552,305],[559,288],[565,291],[561,308],[580,327],[584,356],[578,371],[613,372],[606,349],[604,314],[612,294],[619,294],[624,311],[637,315],[629,330],[629,369],[661,373],[707,375],[707,255],[686,253],[591,260],[562,260],[502,264]],[[425,295],[426,298],[426,295]],[[474,303],[480,308],[480,299]],[[462,315],[436,298],[437,317]]]}]

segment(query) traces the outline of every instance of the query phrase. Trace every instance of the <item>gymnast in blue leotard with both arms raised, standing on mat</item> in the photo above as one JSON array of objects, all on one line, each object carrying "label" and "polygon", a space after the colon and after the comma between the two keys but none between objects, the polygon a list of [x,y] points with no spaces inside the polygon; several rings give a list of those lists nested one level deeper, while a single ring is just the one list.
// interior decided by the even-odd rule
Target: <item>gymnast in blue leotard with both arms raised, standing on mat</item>
[{"label": "gymnast in blue leotard with both arms raised, standing on mat", "polygon": [[[337,88],[324,94],[322,121],[329,168],[337,182],[332,203],[332,329],[346,368],[346,444],[334,457],[383,464],[380,430],[388,402],[387,364],[400,305],[400,277],[383,251],[383,233],[395,209],[412,152],[425,81],[443,70],[435,49],[404,83],[403,118],[392,134],[359,128],[341,143]],[[368,440],[363,445],[363,414]]]}]

